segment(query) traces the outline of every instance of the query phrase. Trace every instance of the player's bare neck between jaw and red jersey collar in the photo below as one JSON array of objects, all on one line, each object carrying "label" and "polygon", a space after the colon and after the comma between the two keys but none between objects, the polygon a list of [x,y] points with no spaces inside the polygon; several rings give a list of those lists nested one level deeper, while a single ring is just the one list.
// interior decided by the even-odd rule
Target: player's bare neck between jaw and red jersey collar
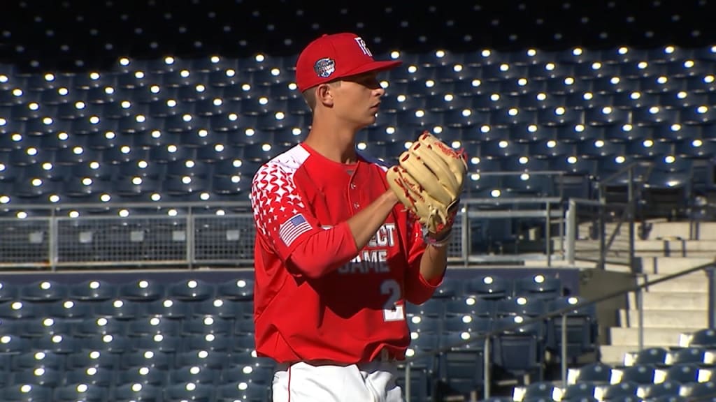
[{"label": "player's bare neck between jaw and red jersey collar", "polygon": [[304,143],[334,162],[345,164],[357,162],[354,130],[331,126],[316,124],[314,121]]}]

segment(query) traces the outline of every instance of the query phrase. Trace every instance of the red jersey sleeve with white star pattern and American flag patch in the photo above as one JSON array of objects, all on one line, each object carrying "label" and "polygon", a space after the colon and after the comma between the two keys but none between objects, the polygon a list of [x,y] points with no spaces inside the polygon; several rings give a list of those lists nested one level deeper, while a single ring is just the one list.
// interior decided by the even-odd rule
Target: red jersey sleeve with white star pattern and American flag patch
[{"label": "red jersey sleeve with white star pattern and American flag patch", "polygon": [[357,250],[347,222],[323,229],[304,198],[292,172],[281,165],[263,165],[253,177],[256,235],[291,273],[314,278],[350,260]]}]

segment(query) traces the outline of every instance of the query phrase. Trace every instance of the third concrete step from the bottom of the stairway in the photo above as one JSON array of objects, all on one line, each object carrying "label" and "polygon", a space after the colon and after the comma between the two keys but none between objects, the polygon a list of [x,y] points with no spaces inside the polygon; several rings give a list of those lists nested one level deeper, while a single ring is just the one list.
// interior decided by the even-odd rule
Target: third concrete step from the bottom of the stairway
[{"label": "third concrete step from the bottom of the stairway", "polygon": [[[708,311],[701,310],[644,310],[644,328],[706,328]],[[619,326],[637,327],[637,310],[619,310]]]}]

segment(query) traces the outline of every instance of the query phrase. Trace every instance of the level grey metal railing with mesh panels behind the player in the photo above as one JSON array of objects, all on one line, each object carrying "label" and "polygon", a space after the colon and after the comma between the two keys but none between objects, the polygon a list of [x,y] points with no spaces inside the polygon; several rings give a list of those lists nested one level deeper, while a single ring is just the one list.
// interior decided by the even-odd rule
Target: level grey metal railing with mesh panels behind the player
[{"label": "level grey metal railing with mesh panels behind the player", "polygon": [[[484,172],[483,177],[510,177],[525,172]],[[531,177],[554,180],[563,172],[529,172]],[[453,265],[511,261],[520,258],[498,250],[475,250],[473,223],[483,220],[531,220],[543,227],[540,241],[551,265],[553,255],[562,258],[564,208],[561,180],[554,184],[553,197],[470,197],[462,200],[448,245]],[[501,187],[498,183],[498,187]],[[504,188],[504,187],[503,187]],[[3,210],[23,212],[24,218],[0,217],[0,267],[58,270],[82,267],[130,266],[251,266],[256,230],[251,205],[240,202],[106,202],[97,204],[17,205]],[[127,210],[125,216],[117,215]],[[221,210],[221,215],[216,212]],[[110,215],[107,211],[115,211]],[[170,212],[175,213],[170,213]],[[70,213],[74,217],[70,217]],[[101,212],[101,213],[98,213]],[[559,250],[552,245],[553,226],[560,239]]]}]

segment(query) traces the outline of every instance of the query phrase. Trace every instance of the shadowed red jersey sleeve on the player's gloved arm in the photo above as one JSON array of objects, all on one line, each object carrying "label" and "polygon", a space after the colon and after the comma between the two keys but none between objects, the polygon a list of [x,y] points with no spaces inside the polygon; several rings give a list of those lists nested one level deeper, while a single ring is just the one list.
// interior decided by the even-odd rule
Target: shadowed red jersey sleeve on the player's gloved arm
[{"label": "shadowed red jersey sleeve on the player's gloved arm", "polygon": [[420,222],[408,219],[408,268],[405,272],[405,300],[413,304],[425,303],[442,283],[445,273],[434,280],[426,280],[420,273],[420,260],[425,254]]}]

